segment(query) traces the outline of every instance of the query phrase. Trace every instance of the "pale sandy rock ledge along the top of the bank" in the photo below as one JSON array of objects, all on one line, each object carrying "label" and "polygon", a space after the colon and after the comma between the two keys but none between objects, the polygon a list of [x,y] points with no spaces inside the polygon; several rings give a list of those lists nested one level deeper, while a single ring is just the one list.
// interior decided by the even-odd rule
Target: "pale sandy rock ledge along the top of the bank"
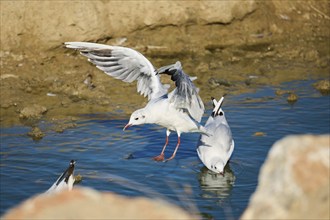
[{"label": "pale sandy rock ledge along the top of the bank", "polygon": [[[143,28],[230,23],[249,1],[1,1],[1,48],[51,48],[64,41],[122,39]],[[123,16],[129,15],[129,16]],[[49,19],[52,18],[52,19]],[[25,46],[28,45],[28,46]]]}]

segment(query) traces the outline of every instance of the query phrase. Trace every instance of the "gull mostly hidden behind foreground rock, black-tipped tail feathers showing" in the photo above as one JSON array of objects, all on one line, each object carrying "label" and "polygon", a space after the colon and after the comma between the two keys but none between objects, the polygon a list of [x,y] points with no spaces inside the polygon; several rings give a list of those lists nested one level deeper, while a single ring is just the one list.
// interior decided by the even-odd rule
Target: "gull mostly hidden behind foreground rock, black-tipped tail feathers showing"
[{"label": "gull mostly hidden behind foreground rock, black-tipped tail feathers showing", "polygon": [[55,193],[63,190],[71,191],[75,178],[73,176],[74,165],[76,161],[71,160],[69,167],[61,174],[56,182],[46,191],[46,193]]}]

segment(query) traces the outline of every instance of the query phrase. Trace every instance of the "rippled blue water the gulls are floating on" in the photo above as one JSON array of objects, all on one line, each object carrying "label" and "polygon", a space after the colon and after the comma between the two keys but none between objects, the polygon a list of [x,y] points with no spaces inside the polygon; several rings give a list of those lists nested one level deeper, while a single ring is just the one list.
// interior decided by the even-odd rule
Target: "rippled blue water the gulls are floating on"
[{"label": "rippled blue water the gulls are floating on", "polygon": [[[71,159],[77,160],[81,186],[127,196],[161,197],[204,218],[238,219],[254,192],[258,174],[272,144],[289,134],[329,134],[329,96],[313,89],[313,81],[281,85],[295,89],[294,105],[273,87],[255,93],[227,96],[224,111],[235,139],[235,150],[225,176],[207,171],[195,147],[198,134],[183,134],[174,160],[150,158],[160,153],[165,129],[144,125],[123,132],[127,120],[111,114],[86,115],[74,129],[47,132],[40,141],[26,133],[29,127],[1,128],[1,210],[46,191]],[[216,94],[214,94],[216,96]],[[205,101],[205,100],[204,100]],[[207,101],[205,101],[207,102]],[[210,102],[203,123],[210,110]],[[41,123],[47,128],[47,123]],[[263,132],[265,136],[254,136]],[[170,136],[169,157],[176,144]]]}]

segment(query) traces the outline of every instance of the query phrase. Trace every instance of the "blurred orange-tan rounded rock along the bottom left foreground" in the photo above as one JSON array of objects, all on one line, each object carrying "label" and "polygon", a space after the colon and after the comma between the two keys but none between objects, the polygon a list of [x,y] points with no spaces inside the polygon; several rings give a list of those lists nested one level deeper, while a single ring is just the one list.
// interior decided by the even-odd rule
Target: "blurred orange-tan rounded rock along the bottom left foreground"
[{"label": "blurred orange-tan rounded rock along the bottom left foreground", "polygon": [[1,219],[196,219],[182,209],[143,197],[124,197],[90,188],[38,195]]}]

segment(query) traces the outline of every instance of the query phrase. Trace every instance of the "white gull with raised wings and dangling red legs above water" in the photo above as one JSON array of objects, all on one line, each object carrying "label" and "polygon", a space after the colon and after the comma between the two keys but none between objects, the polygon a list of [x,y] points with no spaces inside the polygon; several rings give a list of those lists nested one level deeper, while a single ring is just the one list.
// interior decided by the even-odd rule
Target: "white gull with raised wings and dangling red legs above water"
[{"label": "white gull with raised wings and dangling red legs above water", "polygon": [[[156,161],[164,160],[164,151],[171,131],[178,135],[178,142],[172,156],[175,157],[180,145],[180,135],[186,132],[205,133],[199,124],[204,113],[204,104],[191,78],[182,70],[178,61],[173,65],[156,70],[150,61],[138,51],[120,46],[87,42],[66,42],[67,48],[77,49],[97,68],[107,75],[124,82],[137,80],[137,91],[148,97],[148,104],[131,114],[123,130],[141,124],[158,124],[165,127],[166,141]],[[168,86],[160,81],[159,74],[171,75],[176,88],[168,93]]]}]

